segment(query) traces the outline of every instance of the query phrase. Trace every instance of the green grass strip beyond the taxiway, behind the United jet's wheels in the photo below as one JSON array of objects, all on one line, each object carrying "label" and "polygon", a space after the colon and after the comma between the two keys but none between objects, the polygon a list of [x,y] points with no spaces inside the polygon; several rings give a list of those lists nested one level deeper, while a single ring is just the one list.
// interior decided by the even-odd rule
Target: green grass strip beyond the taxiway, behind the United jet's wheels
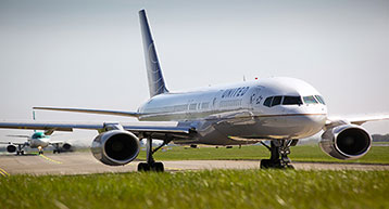
[{"label": "green grass strip beyond the taxiway, behind the United jet's wheels", "polygon": [[[269,157],[263,146],[242,146],[238,148],[200,147],[187,148],[183,146],[170,147],[166,152],[155,153],[158,160],[189,160],[189,159],[264,159]],[[145,159],[145,152],[139,155]],[[389,164],[389,146],[373,146],[364,157],[356,160],[338,160],[327,156],[317,145],[301,145],[291,147],[289,156],[292,161],[324,161],[324,162],[357,162],[357,164]]]}]

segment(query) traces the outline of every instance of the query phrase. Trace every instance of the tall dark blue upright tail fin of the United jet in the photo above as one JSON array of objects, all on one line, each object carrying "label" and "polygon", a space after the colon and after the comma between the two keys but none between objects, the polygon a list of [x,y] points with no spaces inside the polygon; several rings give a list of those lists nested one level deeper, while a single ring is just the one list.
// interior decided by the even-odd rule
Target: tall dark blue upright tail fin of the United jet
[{"label": "tall dark blue upright tail fin of the United jet", "polygon": [[150,97],[168,92],[165,86],[165,81],[162,76],[160,62],[156,56],[154,41],[151,36],[150,26],[146,16],[146,11],[139,11],[140,27],[143,39],[143,50],[146,68],[149,80]]}]

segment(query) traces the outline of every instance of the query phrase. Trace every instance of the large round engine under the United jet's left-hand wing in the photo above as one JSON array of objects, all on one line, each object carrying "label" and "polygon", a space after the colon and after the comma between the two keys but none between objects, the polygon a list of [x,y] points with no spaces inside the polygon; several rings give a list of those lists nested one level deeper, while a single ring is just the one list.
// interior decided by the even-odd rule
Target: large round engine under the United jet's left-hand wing
[{"label": "large round engine under the United jet's left-hand wing", "polygon": [[92,142],[96,159],[109,166],[123,166],[133,161],[140,151],[138,138],[128,131],[111,130],[99,134]]}]

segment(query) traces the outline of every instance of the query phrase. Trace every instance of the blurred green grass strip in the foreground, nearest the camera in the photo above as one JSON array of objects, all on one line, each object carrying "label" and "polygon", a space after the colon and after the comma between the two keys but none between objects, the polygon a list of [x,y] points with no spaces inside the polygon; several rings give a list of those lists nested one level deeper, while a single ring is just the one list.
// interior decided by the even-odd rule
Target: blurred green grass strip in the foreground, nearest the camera
[{"label": "blurred green grass strip in the foreground, nearest the camera", "polygon": [[213,170],[0,178],[0,208],[389,208],[389,171]]}]

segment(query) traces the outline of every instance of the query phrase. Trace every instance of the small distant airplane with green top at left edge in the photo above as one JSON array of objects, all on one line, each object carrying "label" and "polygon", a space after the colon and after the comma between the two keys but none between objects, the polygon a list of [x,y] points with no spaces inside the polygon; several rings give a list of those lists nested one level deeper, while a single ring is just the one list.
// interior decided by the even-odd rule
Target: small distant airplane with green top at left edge
[{"label": "small distant airplane with green top at left edge", "polygon": [[16,155],[24,155],[24,147],[38,148],[38,154],[43,154],[43,148],[52,145],[54,147],[53,154],[60,154],[62,151],[70,151],[72,145],[63,141],[51,141],[50,135],[43,132],[35,131],[32,135],[8,135],[13,138],[26,138],[26,142],[0,142],[0,144],[8,144],[7,151],[15,153]]}]

